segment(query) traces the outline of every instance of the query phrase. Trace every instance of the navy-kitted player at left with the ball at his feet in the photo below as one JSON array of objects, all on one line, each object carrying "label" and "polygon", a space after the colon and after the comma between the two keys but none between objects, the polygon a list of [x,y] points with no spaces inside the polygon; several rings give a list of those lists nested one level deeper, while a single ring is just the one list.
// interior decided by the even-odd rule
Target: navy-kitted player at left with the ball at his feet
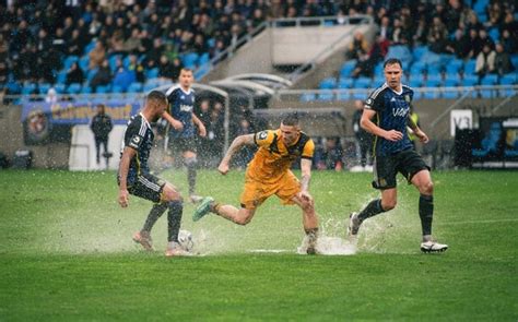
[{"label": "navy-kitted player at left with the ball at his feet", "polygon": [[184,205],[181,195],[176,188],[150,174],[148,159],[153,146],[154,134],[150,122],[156,121],[167,108],[167,98],[158,91],[151,92],[142,111],[128,122],[125,132],[123,146],[120,155],[120,165],[117,176],[119,184],[119,204],[128,206],[129,194],[133,194],[154,202],[142,230],[133,235],[133,240],[146,250],[153,250],[151,228],[160,216],[168,210],[167,257],[184,255],[187,252],[178,242]]}]

